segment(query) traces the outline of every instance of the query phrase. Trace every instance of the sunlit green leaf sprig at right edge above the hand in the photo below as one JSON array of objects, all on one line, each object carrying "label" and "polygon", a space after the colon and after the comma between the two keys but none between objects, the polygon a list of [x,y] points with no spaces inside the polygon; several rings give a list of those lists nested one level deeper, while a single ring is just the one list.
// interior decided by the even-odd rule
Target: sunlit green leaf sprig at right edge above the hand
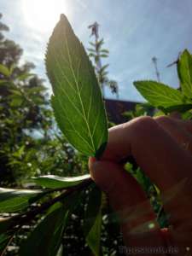
[{"label": "sunlit green leaf sprig at right edge above the hand", "polygon": [[181,90],[155,81],[136,81],[134,85],[143,97],[164,113],[186,112],[192,108],[192,56],[188,50],[177,61],[177,74]]}]

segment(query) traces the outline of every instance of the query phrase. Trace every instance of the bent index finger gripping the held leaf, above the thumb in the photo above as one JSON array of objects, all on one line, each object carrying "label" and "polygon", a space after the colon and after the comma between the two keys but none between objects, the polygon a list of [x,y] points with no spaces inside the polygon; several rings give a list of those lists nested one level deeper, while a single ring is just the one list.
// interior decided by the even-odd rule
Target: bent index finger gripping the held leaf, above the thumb
[{"label": "bent index finger gripping the held leaf, above the thumb", "polygon": [[192,175],[191,155],[150,117],[109,129],[102,160],[119,162],[130,155],[161,191]]}]

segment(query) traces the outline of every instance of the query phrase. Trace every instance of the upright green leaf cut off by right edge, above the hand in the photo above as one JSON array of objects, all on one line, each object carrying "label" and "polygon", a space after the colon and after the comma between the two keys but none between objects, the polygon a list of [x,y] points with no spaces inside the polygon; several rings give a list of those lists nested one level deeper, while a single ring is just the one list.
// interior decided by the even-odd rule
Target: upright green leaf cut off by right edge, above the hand
[{"label": "upright green leaf cut off by right edge, above the hand", "polygon": [[177,61],[177,73],[183,94],[192,98],[192,55],[185,49]]}]

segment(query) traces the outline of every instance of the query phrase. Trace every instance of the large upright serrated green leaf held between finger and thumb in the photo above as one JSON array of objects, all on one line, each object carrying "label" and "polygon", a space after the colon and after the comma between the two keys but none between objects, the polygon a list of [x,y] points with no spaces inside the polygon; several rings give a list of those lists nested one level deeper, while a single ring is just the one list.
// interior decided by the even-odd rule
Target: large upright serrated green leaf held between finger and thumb
[{"label": "large upright serrated green leaf held between finger and thumb", "polygon": [[61,131],[79,152],[99,157],[108,141],[102,92],[90,59],[65,15],[49,39],[46,68]]}]

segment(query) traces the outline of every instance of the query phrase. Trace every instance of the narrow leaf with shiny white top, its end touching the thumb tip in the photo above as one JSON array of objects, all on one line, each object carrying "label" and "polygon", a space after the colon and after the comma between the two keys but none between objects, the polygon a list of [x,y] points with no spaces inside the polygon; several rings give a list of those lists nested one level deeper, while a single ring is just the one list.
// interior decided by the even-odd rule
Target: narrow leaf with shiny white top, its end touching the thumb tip
[{"label": "narrow leaf with shiny white top, its end touching the thumb tip", "polygon": [[74,185],[82,183],[84,180],[89,179],[90,175],[82,175],[77,177],[59,177],[55,175],[45,175],[40,177],[33,177],[36,184],[49,188],[49,189],[59,189],[59,188],[69,188]]}]

